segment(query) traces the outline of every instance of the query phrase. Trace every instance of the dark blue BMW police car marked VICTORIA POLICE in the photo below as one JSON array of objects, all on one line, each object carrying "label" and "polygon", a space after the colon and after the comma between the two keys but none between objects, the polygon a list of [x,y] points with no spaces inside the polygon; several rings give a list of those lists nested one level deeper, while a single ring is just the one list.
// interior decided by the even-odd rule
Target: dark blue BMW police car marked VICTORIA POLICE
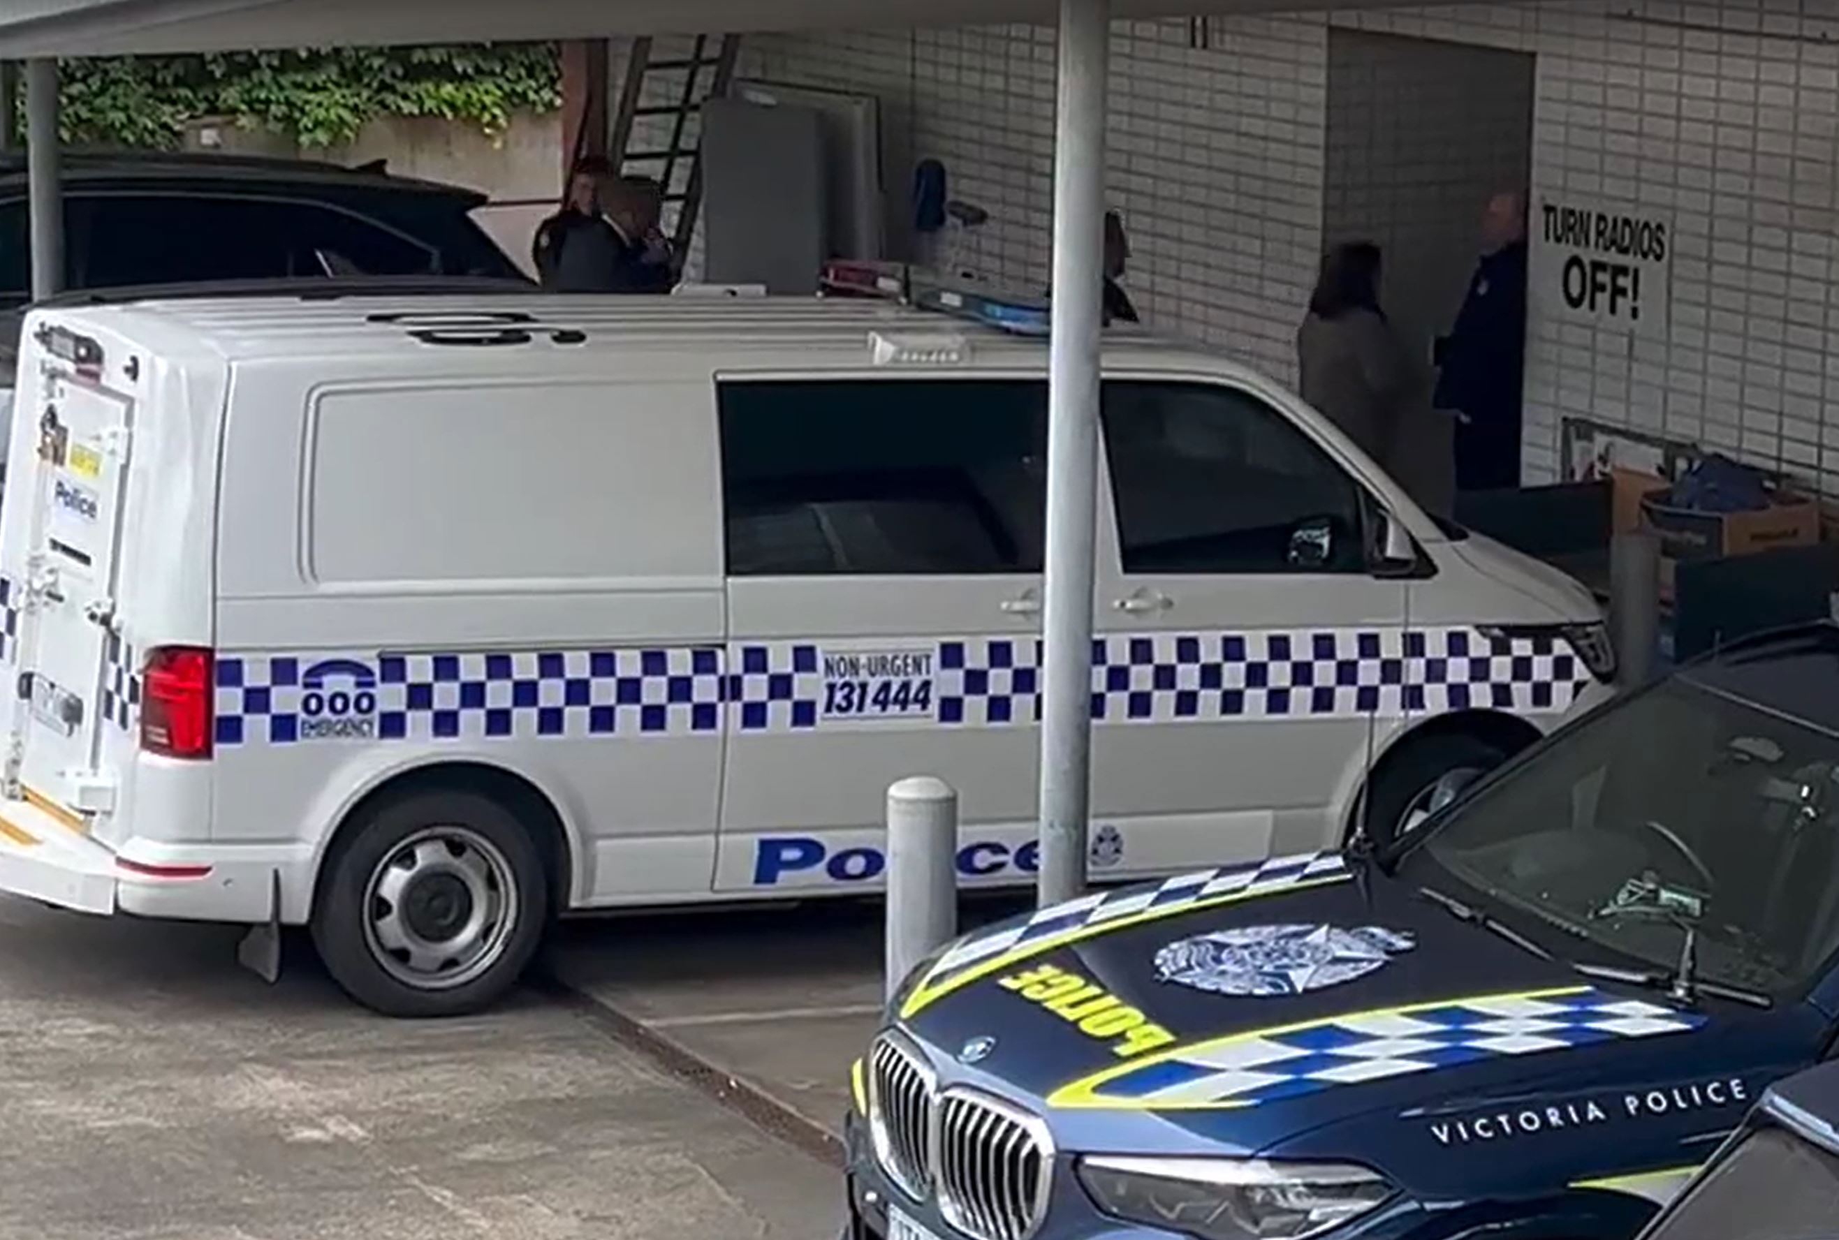
[{"label": "dark blue BMW police car marked VICTORIA POLICE", "polygon": [[1583,716],[1372,854],[943,948],[855,1064],[888,1240],[1631,1236],[1839,1031],[1839,628]]}]

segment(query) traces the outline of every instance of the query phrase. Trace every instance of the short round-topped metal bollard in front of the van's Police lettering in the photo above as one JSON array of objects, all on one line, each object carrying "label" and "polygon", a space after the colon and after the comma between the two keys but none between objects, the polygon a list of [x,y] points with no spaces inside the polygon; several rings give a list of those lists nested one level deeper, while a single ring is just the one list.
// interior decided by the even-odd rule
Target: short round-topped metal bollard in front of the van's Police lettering
[{"label": "short round-topped metal bollard in front of the van's Police lettering", "polygon": [[888,788],[886,996],[958,933],[958,790],[916,775]]}]

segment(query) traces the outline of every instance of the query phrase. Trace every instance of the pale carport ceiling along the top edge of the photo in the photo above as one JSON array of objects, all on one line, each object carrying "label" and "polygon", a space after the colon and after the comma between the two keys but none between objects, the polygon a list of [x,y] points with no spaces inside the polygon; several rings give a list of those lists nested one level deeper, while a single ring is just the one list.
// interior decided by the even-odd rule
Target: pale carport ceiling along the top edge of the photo
[{"label": "pale carport ceiling along the top edge of the photo", "polygon": [[[1403,0],[1113,0],[1116,17]],[[0,57],[1052,22],[1054,0],[6,0]]]}]

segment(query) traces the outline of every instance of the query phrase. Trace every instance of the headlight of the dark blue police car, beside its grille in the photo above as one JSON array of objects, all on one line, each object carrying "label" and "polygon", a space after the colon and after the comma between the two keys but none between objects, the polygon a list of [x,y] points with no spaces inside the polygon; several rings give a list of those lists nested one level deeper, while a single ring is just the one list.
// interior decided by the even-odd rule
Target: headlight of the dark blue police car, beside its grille
[{"label": "headlight of the dark blue police car, beside its grille", "polygon": [[1201,1240],[1304,1240],[1359,1218],[1392,1185],[1365,1167],[1225,1157],[1085,1157],[1107,1214]]}]

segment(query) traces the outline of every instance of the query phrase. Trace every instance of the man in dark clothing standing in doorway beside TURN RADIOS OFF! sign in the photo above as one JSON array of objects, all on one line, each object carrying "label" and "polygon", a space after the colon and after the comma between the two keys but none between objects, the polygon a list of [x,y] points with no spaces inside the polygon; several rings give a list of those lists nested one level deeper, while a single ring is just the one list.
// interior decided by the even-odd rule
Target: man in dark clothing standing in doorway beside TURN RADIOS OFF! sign
[{"label": "man in dark clothing standing in doorway beside TURN RADIOS OFF! sign", "polygon": [[1526,375],[1526,202],[1502,193],[1482,220],[1482,261],[1447,336],[1436,342],[1434,404],[1456,415],[1456,489],[1519,485]]}]

